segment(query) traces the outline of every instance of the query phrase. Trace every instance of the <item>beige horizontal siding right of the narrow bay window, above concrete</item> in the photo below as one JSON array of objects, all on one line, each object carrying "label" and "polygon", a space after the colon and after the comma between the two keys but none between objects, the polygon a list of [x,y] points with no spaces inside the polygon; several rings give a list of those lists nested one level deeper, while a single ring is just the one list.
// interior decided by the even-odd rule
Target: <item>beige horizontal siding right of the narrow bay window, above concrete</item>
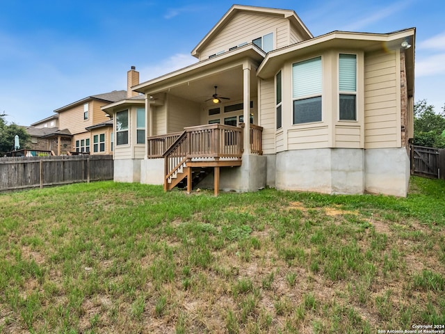
[{"label": "beige horizontal siding right of the narrow bay window, above concrete", "polygon": [[400,144],[398,63],[396,53],[373,53],[364,58],[365,148],[394,148]]}]

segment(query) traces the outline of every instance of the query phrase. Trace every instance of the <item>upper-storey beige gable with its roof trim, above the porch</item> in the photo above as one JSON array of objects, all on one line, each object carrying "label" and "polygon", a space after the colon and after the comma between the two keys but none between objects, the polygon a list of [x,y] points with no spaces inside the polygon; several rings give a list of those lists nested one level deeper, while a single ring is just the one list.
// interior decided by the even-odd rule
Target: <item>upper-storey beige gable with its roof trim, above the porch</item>
[{"label": "upper-storey beige gable with its roof trim, above the porch", "polygon": [[235,5],[193,49],[192,55],[202,61],[270,33],[273,34],[273,49],[312,38],[293,10]]}]

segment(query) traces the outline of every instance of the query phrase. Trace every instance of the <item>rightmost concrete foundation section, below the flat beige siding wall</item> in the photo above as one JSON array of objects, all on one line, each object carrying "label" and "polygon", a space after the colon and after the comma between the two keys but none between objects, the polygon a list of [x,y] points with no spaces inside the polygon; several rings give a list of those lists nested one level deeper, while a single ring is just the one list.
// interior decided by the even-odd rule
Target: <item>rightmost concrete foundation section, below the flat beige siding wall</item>
[{"label": "rightmost concrete foundation section, below the flat beige siding wall", "polygon": [[405,148],[365,150],[365,189],[406,197],[410,182],[410,157]]}]

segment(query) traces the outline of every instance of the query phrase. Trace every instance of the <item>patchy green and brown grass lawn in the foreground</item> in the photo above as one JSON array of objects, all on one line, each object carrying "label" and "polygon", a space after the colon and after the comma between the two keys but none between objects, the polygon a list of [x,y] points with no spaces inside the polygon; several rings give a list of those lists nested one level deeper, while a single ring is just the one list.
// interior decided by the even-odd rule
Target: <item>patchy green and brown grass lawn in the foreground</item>
[{"label": "patchy green and brown grass lawn in the foreground", "polygon": [[444,310],[443,180],[407,198],[0,194],[0,333],[377,333]]}]

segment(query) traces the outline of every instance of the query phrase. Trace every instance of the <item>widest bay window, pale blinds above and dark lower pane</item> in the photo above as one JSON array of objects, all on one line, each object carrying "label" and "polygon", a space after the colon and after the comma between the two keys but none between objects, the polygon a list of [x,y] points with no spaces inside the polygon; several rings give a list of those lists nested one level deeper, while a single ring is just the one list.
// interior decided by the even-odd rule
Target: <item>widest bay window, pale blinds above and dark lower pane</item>
[{"label": "widest bay window, pale blinds above and dark lower pane", "polygon": [[293,124],[321,122],[321,57],[293,64],[292,75]]}]

